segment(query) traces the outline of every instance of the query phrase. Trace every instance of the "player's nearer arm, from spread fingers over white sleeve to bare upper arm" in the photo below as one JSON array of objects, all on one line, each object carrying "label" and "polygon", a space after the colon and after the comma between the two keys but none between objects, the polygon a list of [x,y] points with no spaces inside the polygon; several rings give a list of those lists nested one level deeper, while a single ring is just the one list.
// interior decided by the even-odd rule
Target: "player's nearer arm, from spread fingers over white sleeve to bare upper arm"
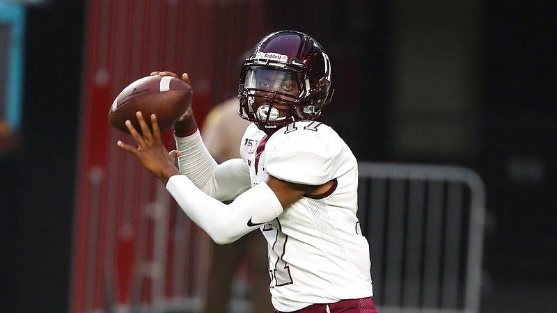
[{"label": "player's nearer arm, from spread fingers over white sleeve to bare upper arm", "polygon": [[173,165],[174,158],[180,152],[166,150],[156,116],[150,116],[152,134],[141,112],[136,117],[143,136],[139,135],[130,121],[126,125],[138,147],[122,141],[118,141],[118,147],[133,154],[152,175],[160,179],[187,216],[216,243],[237,240],[282,214],[283,208],[289,207],[304,193],[320,191],[326,187],[292,184],[269,177],[267,182],[250,188],[230,204],[223,204],[197,188],[188,177],[180,175],[178,168]]}]

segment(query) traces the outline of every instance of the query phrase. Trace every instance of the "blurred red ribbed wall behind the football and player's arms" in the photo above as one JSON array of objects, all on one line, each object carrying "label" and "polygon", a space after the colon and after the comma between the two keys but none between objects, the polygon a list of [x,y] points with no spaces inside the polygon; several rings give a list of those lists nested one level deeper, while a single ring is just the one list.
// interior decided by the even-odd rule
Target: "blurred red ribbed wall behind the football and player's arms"
[{"label": "blurred red ribbed wall behind the football and player's arms", "polygon": [[[189,73],[202,122],[236,87],[238,56],[267,33],[262,6],[245,0],[88,2],[70,312],[156,312],[203,292],[207,238],[164,186],[116,147],[118,140],[132,141],[111,129],[107,114],[128,83],[171,70]],[[173,147],[170,131],[164,136]]]}]

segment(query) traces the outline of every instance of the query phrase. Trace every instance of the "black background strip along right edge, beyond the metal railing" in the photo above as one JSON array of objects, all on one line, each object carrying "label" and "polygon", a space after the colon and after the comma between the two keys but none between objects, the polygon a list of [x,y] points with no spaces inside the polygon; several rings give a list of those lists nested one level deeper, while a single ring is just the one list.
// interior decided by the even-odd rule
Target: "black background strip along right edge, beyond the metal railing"
[{"label": "black background strip along right edge, beyond the metal railing", "polygon": [[557,24],[549,3],[485,6],[478,171],[495,220],[484,249],[492,279],[485,312],[557,307]]}]

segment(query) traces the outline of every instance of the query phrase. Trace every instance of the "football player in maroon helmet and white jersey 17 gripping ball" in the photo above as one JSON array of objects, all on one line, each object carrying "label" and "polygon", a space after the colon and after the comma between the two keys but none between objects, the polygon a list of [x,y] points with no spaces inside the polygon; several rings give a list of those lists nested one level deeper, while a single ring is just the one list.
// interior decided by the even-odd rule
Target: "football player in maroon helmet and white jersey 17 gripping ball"
[{"label": "football player in maroon helmet and white jersey 17 gripping ball", "polygon": [[[189,81],[187,74],[182,79]],[[127,122],[138,147],[118,142],[215,242],[254,230],[265,236],[277,313],[376,312],[368,241],[356,217],[356,158],[316,120],[332,95],[321,45],[305,33],[278,31],[262,38],[242,66],[239,113],[252,124],[240,159],[217,164],[191,110],[175,125],[177,150],[162,144],[156,116],[151,133],[139,112],[143,136]]]}]

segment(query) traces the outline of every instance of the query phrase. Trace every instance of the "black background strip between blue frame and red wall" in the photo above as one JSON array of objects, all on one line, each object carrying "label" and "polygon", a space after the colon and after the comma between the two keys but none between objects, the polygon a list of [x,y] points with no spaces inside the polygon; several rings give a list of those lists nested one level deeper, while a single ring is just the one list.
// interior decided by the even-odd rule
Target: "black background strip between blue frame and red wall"
[{"label": "black background strip between blue frame and red wall", "polygon": [[21,149],[0,161],[0,312],[68,310],[83,31],[84,1],[27,10]]}]

